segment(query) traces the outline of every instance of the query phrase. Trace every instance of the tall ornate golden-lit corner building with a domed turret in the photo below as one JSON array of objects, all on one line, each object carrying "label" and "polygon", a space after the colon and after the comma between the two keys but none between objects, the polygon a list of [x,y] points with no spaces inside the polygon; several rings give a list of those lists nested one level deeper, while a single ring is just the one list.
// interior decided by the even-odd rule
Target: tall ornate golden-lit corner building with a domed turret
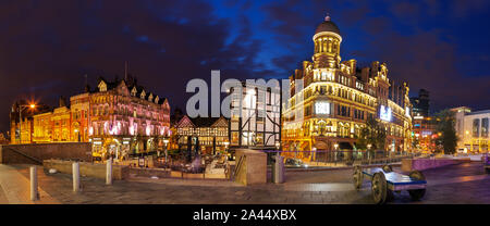
[{"label": "tall ornate golden-lit corner building with a domed turret", "polygon": [[[298,158],[315,160],[309,150],[355,149],[368,117],[377,118],[387,130],[391,151],[411,148],[412,105],[408,85],[388,78],[384,63],[372,62],[358,68],[356,60],[341,61],[342,36],[326,20],[318,25],[313,41],[313,61],[290,76],[290,99],[283,105],[282,147],[301,152]],[[298,84],[301,83],[301,85]]]}]

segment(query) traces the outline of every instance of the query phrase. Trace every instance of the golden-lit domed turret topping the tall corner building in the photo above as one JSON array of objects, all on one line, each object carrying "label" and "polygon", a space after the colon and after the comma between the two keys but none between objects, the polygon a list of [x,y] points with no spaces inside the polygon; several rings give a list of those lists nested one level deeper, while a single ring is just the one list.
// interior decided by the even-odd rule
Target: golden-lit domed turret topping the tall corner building
[{"label": "golden-lit domed turret topping the tall corner building", "polygon": [[315,68],[339,68],[342,36],[330,16],[326,16],[324,21],[317,26],[313,40],[315,42],[313,56]]}]

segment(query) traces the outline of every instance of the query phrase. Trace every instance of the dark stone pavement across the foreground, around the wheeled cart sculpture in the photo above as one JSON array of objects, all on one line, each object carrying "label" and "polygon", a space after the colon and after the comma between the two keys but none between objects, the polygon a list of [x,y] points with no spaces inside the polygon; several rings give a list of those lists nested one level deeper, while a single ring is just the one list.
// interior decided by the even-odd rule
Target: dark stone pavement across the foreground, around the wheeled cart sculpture
[{"label": "dark stone pavement across the foreground, around the wheeled cart sculpture", "polygon": [[[15,166],[28,177],[28,168]],[[394,168],[400,171],[400,168]],[[82,192],[72,191],[71,175],[48,175],[38,171],[39,186],[61,203],[264,203],[264,204],[321,204],[372,203],[370,183],[356,191],[352,185],[352,170],[318,172],[287,172],[286,183],[241,186],[223,180],[151,179],[132,177],[106,186],[102,179],[81,178]],[[490,175],[481,163],[463,163],[443,168],[428,170],[424,174],[428,189],[421,201],[413,202],[406,191],[395,194],[400,203],[487,203],[490,204]],[[2,194],[0,194],[0,202]]]}]

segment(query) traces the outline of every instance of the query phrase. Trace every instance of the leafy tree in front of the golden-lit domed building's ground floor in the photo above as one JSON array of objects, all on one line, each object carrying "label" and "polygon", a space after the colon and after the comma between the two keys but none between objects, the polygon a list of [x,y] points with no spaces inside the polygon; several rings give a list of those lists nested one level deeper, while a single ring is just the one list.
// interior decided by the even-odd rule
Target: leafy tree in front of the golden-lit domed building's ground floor
[{"label": "leafy tree in front of the golden-lit domed building's ground floor", "polygon": [[368,117],[366,126],[360,130],[357,137],[357,148],[367,150],[367,146],[371,145],[370,150],[384,150],[387,140],[387,130],[384,126],[373,117]]}]

